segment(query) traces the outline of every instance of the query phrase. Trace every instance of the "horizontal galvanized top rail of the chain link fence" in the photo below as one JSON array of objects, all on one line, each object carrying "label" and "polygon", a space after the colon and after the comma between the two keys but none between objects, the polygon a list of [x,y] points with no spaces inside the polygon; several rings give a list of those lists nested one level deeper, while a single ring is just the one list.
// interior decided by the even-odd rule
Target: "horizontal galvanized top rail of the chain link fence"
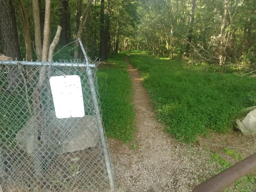
[{"label": "horizontal galvanized top rail of the chain link fence", "polygon": [[[67,60],[65,61],[60,61],[60,62],[41,62],[41,61],[2,61],[0,60],[0,65],[12,65],[16,66],[18,63],[20,63],[21,66],[44,66],[44,67],[81,67],[81,68],[86,68],[87,65],[85,61],[83,63],[80,63],[80,60],[77,60],[75,62],[74,60],[71,62],[68,62]],[[89,63],[90,68],[95,68],[96,64],[95,63]]]}]

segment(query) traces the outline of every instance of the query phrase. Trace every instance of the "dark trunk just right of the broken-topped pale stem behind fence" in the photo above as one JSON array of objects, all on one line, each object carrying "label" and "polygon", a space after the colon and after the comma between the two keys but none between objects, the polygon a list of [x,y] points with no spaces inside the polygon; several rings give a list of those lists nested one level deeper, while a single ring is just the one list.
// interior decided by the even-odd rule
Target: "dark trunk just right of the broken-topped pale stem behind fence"
[{"label": "dark trunk just right of the broken-topped pale stem behind fence", "polygon": [[68,44],[68,0],[60,0],[60,26],[62,27],[60,33],[60,44]]}]

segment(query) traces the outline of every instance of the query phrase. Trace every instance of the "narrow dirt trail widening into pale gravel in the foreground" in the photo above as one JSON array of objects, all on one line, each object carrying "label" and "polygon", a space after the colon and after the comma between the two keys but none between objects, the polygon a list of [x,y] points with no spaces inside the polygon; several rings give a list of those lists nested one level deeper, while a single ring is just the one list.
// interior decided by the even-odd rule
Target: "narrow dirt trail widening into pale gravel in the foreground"
[{"label": "narrow dirt trail widening into pale gravel in the foreground", "polygon": [[108,139],[116,191],[192,191],[214,169],[213,164],[208,164],[209,153],[180,143],[163,132],[154,118],[140,74],[130,64],[128,72],[134,87],[138,127],[133,143],[138,148]]}]

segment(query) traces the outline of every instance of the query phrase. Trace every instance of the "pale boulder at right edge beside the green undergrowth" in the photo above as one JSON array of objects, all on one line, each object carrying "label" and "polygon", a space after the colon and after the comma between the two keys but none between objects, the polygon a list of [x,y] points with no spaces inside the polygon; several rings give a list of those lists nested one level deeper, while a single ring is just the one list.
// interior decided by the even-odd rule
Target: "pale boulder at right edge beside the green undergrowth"
[{"label": "pale boulder at right edge beside the green undergrowth", "polygon": [[236,127],[245,135],[256,133],[256,109],[250,111],[244,118],[236,120]]}]

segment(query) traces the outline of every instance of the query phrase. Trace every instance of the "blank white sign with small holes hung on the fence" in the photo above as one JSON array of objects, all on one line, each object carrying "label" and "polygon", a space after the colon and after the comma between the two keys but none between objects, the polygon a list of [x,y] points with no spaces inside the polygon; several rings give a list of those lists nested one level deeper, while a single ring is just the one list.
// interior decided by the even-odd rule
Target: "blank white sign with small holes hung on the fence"
[{"label": "blank white sign with small holes hung on the fence", "polygon": [[50,77],[56,117],[83,117],[84,100],[81,79],[78,75]]}]

